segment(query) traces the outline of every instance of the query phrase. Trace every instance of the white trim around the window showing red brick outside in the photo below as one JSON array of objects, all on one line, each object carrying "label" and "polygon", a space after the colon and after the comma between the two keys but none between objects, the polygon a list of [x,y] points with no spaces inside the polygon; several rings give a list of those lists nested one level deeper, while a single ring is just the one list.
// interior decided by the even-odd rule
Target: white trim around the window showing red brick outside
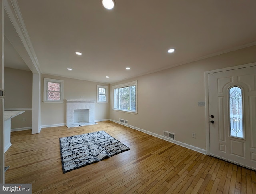
[{"label": "white trim around the window showing red brick outside", "polygon": [[[60,100],[47,100],[47,82],[52,82],[52,83],[58,83],[60,84]],[[50,79],[50,78],[44,78],[44,100],[43,102],[46,103],[63,103],[64,99],[64,81],[63,80],[55,80],[55,79]]]}]

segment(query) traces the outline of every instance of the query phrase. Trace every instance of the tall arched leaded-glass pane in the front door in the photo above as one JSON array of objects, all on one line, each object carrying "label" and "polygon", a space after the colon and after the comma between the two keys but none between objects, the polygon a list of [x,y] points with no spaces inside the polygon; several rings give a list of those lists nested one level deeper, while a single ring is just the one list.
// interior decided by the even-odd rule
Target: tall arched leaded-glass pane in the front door
[{"label": "tall arched leaded-glass pane in the front door", "polygon": [[242,89],[234,86],[229,89],[230,136],[244,138],[244,115]]}]

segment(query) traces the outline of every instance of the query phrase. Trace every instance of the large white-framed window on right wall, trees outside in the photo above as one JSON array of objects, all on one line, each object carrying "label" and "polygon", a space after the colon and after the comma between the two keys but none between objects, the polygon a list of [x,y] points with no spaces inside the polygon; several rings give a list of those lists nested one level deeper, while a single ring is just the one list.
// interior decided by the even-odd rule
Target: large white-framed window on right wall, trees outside
[{"label": "large white-framed window on right wall, trees outside", "polygon": [[137,113],[137,81],[113,86],[114,110]]}]

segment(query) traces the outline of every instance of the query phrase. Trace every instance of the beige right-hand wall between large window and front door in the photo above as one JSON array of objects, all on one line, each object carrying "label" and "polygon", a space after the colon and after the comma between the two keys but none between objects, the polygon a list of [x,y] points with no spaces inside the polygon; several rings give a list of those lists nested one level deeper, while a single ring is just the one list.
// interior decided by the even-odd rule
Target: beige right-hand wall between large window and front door
[{"label": "beige right-hand wall between large window and front door", "polygon": [[[129,125],[157,135],[169,131],[177,141],[205,150],[205,107],[198,107],[198,101],[205,100],[204,72],[253,62],[256,46],[111,84],[110,119],[128,120]],[[113,111],[112,86],[134,80],[138,80],[138,114]]]}]

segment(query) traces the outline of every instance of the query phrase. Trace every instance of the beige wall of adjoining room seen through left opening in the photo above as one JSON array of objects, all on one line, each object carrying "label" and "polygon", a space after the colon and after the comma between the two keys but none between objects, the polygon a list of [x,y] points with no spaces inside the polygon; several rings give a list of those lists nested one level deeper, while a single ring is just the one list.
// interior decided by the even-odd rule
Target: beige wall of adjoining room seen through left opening
[{"label": "beige wall of adjoining room seen through left opening", "polygon": [[[25,109],[25,112],[12,118],[11,129],[32,126],[32,72],[4,68],[5,109]],[[26,121],[22,121],[26,118]]]}]

